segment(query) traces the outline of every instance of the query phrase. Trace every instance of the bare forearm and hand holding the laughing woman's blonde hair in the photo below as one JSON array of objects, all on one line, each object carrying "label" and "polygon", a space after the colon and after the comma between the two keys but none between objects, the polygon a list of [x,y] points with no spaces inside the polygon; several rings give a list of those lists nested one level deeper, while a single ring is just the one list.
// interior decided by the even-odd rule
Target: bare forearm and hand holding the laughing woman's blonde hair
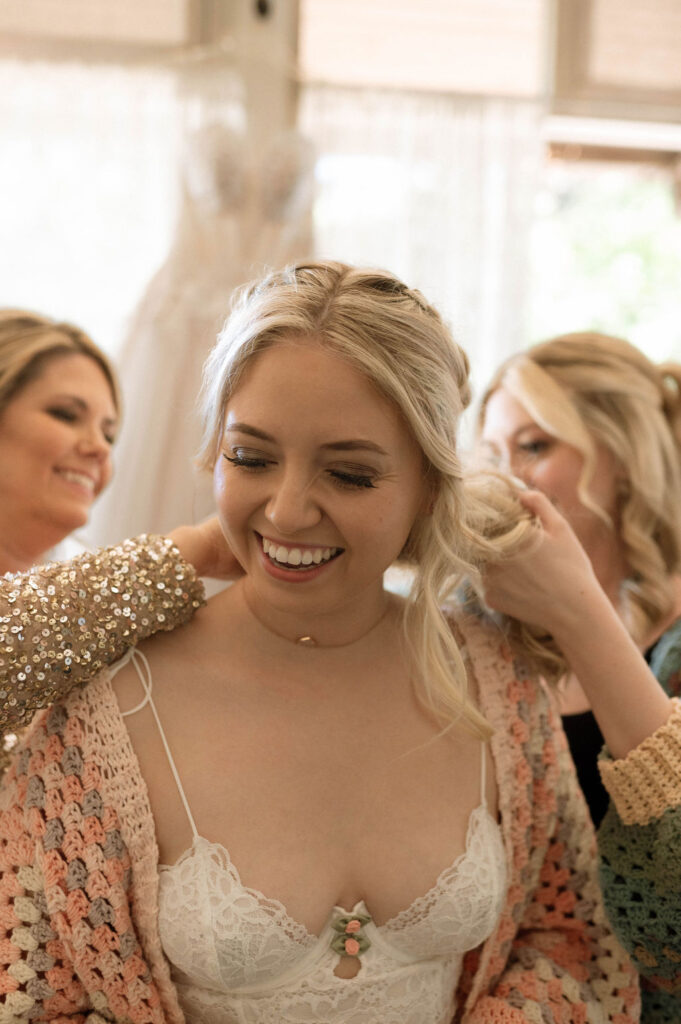
[{"label": "bare forearm and hand holding the laughing woman's blonde hair", "polygon": [[521,496],[541,536],[485,572],[491,607],[550,633],[580,680],[612,756],[624,758],[669,719],[672,705],[603,592],[568,523],[538,492]]}]

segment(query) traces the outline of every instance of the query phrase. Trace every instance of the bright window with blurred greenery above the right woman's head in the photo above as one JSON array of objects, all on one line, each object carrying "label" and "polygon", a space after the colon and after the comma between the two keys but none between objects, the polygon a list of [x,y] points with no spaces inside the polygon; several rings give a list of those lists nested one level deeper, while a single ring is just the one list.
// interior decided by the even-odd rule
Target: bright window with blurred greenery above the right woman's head
[{"label": "bright window with blurred greenery above the right woman's head", "polygon": [[530,340],[593,329],[681,359],[681,216],[669,166],[545,165],[531,236]]}]

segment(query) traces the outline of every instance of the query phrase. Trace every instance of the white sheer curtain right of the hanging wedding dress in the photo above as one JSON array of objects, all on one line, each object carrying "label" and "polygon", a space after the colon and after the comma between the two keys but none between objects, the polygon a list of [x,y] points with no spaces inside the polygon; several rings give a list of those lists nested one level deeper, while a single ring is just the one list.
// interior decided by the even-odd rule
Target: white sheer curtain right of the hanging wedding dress
[{"label": "white sheer curtain right of the hanging wedding dress", "polygon": [[526,342],[542,108],[307,86],[317,253],[386,266],[436,303],[481,385]]}]

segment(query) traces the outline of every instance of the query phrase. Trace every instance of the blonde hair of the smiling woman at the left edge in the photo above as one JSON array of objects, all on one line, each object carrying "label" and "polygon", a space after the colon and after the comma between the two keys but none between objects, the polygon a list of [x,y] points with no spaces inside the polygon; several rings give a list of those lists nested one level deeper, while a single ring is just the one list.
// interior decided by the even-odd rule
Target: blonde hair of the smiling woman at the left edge
[{"label": "blonde hair of the smiling woman at the left edge", "polygon": [[92,339],[74,327],[24,309],[0,310],[0,414],[12,398],[59,355],[86,355],[111,388],[116,411],[121,394],[112,364]]}]

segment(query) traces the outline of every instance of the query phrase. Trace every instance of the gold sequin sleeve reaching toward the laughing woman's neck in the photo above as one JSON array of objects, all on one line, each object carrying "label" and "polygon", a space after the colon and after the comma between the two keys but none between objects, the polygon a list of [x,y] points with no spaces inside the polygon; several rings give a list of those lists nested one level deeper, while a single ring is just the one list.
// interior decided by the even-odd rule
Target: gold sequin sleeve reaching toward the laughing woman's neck
[{"label": "gold sequin sleeve reaching toward the laughing woman's neck", "polygon": [[142,535],[112,548],[0,577],[0,731],[160,630],[187,622],[203,584],[165,537]]}]

